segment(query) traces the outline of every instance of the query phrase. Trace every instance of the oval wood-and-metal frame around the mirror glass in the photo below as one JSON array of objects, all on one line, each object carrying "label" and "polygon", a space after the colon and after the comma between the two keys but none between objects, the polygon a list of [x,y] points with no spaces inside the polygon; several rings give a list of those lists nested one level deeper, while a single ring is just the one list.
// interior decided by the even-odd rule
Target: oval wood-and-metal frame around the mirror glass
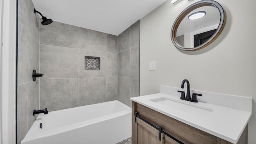
[{"label": "oval wood-and-metal frame around the mirror glass", "polygon": [[[219,12],[220,12],[220,24],[217,28],[217,30],[214,32],[214,34],[211,36],[211,38],[209,38],[206,42],[204,42],[203,44],[200,44],[199,46],[196,46],[194,48],[183,48],[182,46],[180,46],[180,44],[178,43],[177,40],[177,29],[178,26],[180,25],[180,23],[182,22],[182,20],[193,10],[195,10],[196,8],[200,8],[202,6],[214,6],[216,8],[218,8]],[[209,44],[211,44],[214,40],[216,40],[216,38],[218,38],[218,36],[220,35],[220,33],[222,32],[222,30],[224,29],[224,26],[226,24],[226,12],[225,10],[222,8],[222,6],[214,1],[214,0],[202,0],[199,2],[195,2],[194,4],[191,4],[190,6],[188,6],[185,10],[183,10],[180,15],[176,18],[174,24],[172,25],[172,30],[171,30],[171,39],[172,39],[172,43],[174,44],[174,46],[176,46],[176,48],[180,49],[180,50],[186,50],[186,51],[194,51],[194,50],[200,50],[206,46],[208,46]]]}]

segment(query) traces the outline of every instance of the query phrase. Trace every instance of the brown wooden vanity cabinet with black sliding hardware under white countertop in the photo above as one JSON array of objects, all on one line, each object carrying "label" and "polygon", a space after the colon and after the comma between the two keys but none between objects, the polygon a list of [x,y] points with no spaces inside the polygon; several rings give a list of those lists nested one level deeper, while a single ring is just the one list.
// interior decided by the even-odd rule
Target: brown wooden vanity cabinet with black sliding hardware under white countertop
[{"label": "brown wooden vanity cabinet with black sliding hardware under white countertop", "polygon": [[[161,140],[159,140],[158,130],[143,120],[136,118],[134,113],[154,124],[154,126],[162,126],[163,130],[180,140],[184,144],[231,144],[230,142],[208,134],[202,130],[194,128],[188,124],[180,122],[174,118],[170,118],[160,112],[152,110],[146,106],[132,101],[132,144],[179,144],[172,138],[161,133]],[[237,144],[247,144],[246,126],[242,136]]]}]

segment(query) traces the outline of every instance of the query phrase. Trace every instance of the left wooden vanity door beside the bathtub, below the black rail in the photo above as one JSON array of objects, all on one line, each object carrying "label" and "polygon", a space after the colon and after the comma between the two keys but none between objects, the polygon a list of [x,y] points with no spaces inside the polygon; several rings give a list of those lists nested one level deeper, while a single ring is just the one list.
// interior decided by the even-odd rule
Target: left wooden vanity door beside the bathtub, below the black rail
[{"label": "left wooden vanity door beside the bathtub, below the black rail", "polygon": [[134,124],[134,144],[164,144],[164,134],[158,139],[158,130],[137,118]]}]

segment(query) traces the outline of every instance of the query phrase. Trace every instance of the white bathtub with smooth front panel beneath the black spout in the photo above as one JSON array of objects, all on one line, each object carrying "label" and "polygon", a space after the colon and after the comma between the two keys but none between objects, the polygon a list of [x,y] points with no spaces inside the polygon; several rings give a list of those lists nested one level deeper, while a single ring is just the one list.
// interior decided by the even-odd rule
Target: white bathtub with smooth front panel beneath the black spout
[{"label": "white bathtub with smooth front panel beneath the black spout", "polygon": [[131,136],[132,109],[115,100],[39,114],[21,144],[116,144]]}]

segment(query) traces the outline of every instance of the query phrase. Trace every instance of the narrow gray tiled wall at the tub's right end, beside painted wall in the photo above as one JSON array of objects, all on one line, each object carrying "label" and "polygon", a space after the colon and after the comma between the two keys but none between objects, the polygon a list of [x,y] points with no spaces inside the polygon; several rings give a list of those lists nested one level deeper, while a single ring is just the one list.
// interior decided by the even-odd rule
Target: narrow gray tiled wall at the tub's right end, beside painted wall
[{"label": "narrow gray tiled wall at the tub's right end, beside painted wall", "polygon": [[131,106],[140,92],[140,20],[118,35],[118,97]]}]

